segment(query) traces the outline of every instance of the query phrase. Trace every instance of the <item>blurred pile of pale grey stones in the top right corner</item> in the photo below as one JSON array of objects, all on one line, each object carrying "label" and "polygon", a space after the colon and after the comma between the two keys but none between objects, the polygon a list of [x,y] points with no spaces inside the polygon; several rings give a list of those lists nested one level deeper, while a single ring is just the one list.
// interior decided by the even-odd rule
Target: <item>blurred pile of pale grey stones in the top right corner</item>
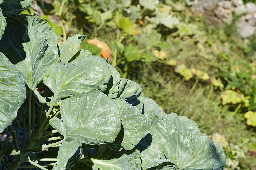
[{"label": "blurred pile of pale grey stones in the top right corner", "polygon": [[237,31],[242,38],[250,38],[256,31],[256,4],[242,0],[194,0],[191,11],[194,14],[203,13],[209,22],[233,23],[236,21]]}]

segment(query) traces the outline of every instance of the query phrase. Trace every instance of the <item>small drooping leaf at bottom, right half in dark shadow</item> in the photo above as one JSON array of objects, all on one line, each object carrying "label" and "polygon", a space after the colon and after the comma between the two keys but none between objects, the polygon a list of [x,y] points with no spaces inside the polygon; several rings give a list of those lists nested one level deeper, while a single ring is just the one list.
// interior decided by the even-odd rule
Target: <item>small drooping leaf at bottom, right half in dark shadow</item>
[{"label": "small drooping leaf at bottom, right half in dark shadow", "polygon": [[60,145],[58,152],[59,163],[53,170],[71,169],[74,164],[82,157],[82,143],[79,140],[64,142]]}]

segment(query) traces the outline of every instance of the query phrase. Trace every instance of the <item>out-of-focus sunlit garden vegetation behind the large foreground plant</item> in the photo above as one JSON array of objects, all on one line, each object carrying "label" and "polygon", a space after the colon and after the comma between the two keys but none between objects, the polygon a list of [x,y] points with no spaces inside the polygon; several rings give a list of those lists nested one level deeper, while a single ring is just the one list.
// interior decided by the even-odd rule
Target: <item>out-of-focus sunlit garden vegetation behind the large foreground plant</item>
[{"label": "out-of-focus sunlit garden vegetation behind the large foreground plant", "polygon": [[[255,2],[37,0],[23,13],[49,22],[60,43],[87,35],[81,49],[109,58],[164,112],[220,143],[226,169],[256,170]],[[244,35],[241,22],[254,32]]]}]

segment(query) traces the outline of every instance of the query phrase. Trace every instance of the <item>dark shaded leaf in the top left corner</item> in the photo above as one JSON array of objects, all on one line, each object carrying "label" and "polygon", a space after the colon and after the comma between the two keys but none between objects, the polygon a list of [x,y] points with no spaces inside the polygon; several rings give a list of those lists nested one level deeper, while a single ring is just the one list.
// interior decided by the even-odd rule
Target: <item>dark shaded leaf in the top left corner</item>
[{"label": "dark shaded leaf in the top left corner", "polygon": [[22,11],[28,9],[33,0],[4,0],[0,7],[5,17],[19,15]]}]

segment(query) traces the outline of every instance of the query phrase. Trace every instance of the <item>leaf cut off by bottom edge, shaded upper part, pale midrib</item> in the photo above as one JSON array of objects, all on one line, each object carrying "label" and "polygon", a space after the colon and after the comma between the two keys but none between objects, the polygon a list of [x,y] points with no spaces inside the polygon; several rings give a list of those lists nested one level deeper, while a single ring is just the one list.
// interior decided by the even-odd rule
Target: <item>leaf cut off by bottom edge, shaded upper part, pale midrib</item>
[{"label": "leaf cut off by bottom edge, shaded upper part, pale midrib", "polygon": [[116,152],[100,145],[99,152],[91,160],[100,170],[141,170],[139,150]]}]

